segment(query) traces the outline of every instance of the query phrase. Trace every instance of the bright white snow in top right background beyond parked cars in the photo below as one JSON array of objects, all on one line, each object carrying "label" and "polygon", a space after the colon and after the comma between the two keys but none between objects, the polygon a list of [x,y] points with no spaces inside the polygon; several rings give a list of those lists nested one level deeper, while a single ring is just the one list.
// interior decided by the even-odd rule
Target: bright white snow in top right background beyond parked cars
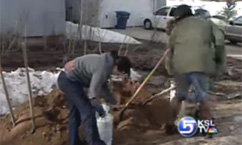
[{"label": "bright white snow in top right background beyond parked cars", "polygon": [[[215,2],[215,1],[200,1],[200,0],[168,0],[167,5],[180,5],[187,4],[191,6],[201,6],[208,10],[211,15],[218,15],[224,7],[226,7],[226,2]],[[242,15],[242,2],[236,3],[237,16]]]}]

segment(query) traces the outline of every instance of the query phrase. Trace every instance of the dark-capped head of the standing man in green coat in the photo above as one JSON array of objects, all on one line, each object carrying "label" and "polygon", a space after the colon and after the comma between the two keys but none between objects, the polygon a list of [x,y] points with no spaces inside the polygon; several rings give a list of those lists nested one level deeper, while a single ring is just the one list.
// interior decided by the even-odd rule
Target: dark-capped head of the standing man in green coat
[{"label": "dark-capped head of the standing man in green coat", "polygon": [[188,5],[178,6],[175,10],[174,15],[177,21],[184,19],[186,17],[192,16],[193,14],[192,14],[191,6],[188,6]]}]

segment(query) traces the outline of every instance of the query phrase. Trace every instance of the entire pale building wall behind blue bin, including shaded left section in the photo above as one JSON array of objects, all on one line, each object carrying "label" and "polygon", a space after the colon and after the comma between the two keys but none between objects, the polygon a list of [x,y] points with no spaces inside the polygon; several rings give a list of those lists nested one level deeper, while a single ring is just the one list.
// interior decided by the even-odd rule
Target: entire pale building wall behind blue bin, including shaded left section
[{"label": "entire pale building wall behind blue bin, including shaded left section", "polygon": [[80,22],[81,1],[83,24],[105,28],[115,27],[115,11],[131,13],[128,26],[142,26],[145,18],[166,5],[166,0],[66,0],[68,21]]}]

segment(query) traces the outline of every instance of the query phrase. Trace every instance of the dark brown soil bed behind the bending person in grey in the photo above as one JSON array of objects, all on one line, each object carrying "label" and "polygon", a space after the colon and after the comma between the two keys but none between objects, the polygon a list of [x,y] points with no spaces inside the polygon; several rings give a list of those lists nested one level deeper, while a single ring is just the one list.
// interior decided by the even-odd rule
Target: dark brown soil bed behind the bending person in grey
[{"label": "dark brown soil bed behind the bending person in grey", "polygon": [[[99,53],[100,51],[98,49],[98,46],[99,45],[97,43],[88,42],[86,54]],[[165,47],[163,44],[153,44],[149,42],[144,42],[143,45],[127,46],[122,46],[121,44],[102,44],[101,47],[102,52],[120,50],[121,55],[127,54],[127,56],[131,59],[134,68],[143,71],[151,70],[165,51]],[[128,51],[126,51],[127,49]],[[15,70],[16,68],[22,67],[24,65],[21,50],[14,50],[14,52],[8,52],[3,54],[2,66],[4,70]],[[49,49],[45,49],[44,47],[40,46],[29,46],[29,67],[38,70],[53,70],[55,67],[62,67],[67,60],[71,60],[83,54],[83,45],[77,45],[72,53],[69,53],[68,49],[64,45],[58,45],[58,47],[53,46]],[[159,70],[162,73],[166,73],[164,67],[161,67]]]}]

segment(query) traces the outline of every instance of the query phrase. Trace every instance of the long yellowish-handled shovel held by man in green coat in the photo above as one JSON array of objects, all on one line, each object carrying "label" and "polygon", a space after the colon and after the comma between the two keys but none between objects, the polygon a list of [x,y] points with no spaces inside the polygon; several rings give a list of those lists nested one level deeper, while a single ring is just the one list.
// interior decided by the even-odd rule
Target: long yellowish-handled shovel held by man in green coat
[{"label": "long yellowish-handled shovel held by man in green coat", "polygon": [[167,49],[165,51],[164,55],[161,57],[161,59],[158,61],[158,63],[155,65],[155,67],[152,69],[152,71],[147,75],[147,77],[142,82],[142,84],[139,86],[139,88],[135,91],[135,93],[133,94],[133,96],[124,105],[124,107],[122,108],[122,110],[120,112],[120,115],[119,115],[119,122],[122,121],[125,110],[128,108],[128,106],[130,105],[130,103],[137,97],[137,95],[140,92],[140,90],[144,87],[144,85],[147,83],[147,81],[150,79],[150,77],[154,74],[154,72],[157,70],[157,68],[159,67],[159,65],[164,61],[164,59],[165,59],[165,57],[166,57],[166,55],[168,54],[169,51],[170,51],[170,49]]}]

